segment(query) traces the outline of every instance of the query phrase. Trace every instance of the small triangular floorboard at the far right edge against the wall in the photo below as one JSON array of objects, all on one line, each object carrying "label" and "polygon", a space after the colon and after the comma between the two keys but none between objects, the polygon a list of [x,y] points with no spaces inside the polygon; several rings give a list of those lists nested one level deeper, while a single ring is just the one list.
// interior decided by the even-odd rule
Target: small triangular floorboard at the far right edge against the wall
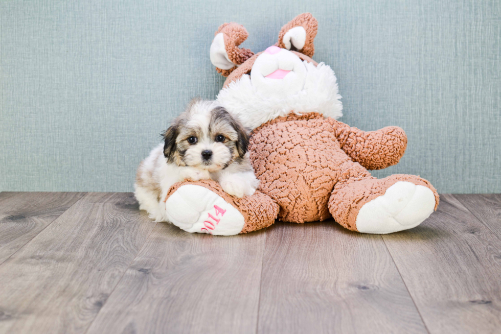
[{"label": "small triangular floorboard at the far right edge against the wall", "polygon": [[501,194],[454,195],[477,219],[501,238]]}]

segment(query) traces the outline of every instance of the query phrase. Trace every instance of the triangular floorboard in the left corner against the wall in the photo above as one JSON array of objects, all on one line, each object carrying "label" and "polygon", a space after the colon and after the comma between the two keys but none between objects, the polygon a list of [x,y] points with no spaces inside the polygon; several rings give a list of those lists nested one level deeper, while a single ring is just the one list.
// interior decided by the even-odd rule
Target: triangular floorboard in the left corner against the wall
[{"label": "triangular floorboard in the left corner against the wall", "polygon": [[0,193],[0,264],[85,193]]}]

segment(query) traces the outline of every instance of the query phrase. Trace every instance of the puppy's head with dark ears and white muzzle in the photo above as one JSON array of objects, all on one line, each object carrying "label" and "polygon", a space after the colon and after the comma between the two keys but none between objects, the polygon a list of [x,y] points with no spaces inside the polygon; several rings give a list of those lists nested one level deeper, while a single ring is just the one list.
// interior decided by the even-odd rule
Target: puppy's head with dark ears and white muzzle
[{"label": "puppy's head with dark ears and white muzzle", "polygon": [[193,100],[164,133],[169,163],[216,172],[247,152],[247,131],[223,107]]}]

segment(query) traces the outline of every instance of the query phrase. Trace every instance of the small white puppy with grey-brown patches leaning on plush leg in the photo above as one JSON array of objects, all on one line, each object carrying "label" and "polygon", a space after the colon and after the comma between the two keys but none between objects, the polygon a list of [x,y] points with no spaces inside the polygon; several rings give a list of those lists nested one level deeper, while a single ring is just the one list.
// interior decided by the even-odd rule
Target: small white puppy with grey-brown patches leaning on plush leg
[{"label": "small white puppy with grey-brown patches leaning on plush leg", "polygon": [[259,181],[250,164],[248,131],[215,101],[193,100],[163,133],[136,173],[134,195],[151,219],[167,221],[164,198],[183,180],[212,179],[233,196],[254,194]]}]

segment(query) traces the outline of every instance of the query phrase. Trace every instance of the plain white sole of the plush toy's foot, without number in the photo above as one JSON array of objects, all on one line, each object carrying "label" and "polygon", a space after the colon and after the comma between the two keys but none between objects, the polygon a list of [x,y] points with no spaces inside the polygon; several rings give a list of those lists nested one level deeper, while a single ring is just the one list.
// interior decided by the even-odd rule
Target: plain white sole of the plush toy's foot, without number
[{"label": "plain white sole of the plush toy's foot, without number", "polygon": [[421,224],[434,207],[435,195],[429,188],[399,181],[360,208],[356,228],[377,234],[406,230]]}]

